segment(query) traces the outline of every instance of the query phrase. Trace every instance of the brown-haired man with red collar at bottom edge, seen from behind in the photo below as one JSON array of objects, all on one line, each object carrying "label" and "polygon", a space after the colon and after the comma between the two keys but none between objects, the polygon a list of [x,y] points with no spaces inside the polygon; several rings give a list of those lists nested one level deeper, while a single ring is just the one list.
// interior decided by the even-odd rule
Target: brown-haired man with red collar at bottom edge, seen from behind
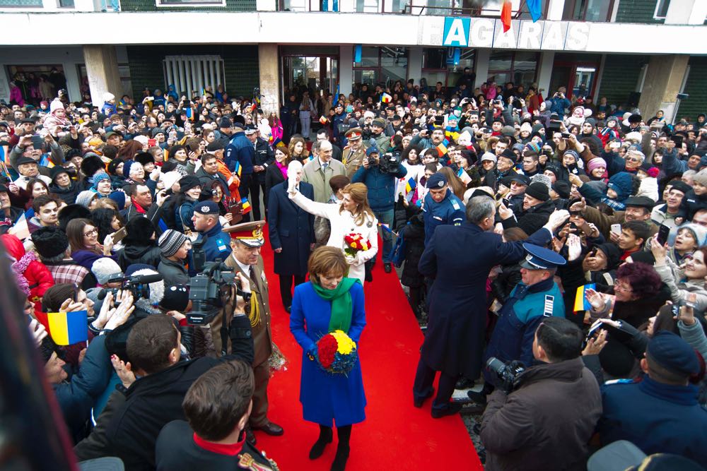
[{"label": "brown-haired man with red collar at bottom edge, seen from behind", "polygon": [[276,469],[245,440],[253,390],[253,371],[240,360],[214,366],[199,376],[182,403],[188,423],[175,420],[160,431],[157,469]]}]

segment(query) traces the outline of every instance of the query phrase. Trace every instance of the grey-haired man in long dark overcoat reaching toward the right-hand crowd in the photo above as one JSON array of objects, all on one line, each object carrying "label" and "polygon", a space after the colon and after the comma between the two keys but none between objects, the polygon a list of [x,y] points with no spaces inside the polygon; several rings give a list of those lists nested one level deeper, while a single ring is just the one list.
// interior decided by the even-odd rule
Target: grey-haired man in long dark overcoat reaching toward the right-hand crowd
[{"label": "grey-haired man in long dark overcoat reaching toward the right-hand crowd", "polygon": [[[486,328],[486,279],[493,266],[520,261],[522,241],[503,242],[489,232],[496,204],[487,196],[475,196],[466,207],[467,222],[437,227],[419,263],[425,276],[434,278],[429,294],[430,314],[413,386],[414,405],[421,407],[440,381],[432,405],[432,417],[455,414],[461,405],[450,403],[457,379],[478,378]],[[555,211],[547,224],[525,242],[545,246],[552,232],[567,219],[566,210]],[[438,269],[440,268],[440,269]]]}]

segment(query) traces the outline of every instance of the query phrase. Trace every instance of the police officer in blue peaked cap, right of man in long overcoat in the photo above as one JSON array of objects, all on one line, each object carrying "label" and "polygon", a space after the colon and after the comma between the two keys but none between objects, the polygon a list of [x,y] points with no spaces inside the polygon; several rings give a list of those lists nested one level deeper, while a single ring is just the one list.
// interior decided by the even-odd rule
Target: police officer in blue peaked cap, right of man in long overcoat
[{"label": "police officer in blue peaked cap, right of man in long overcoat", "polygon": [[[554,251],[537,245],[525,243],[523,249],[526,256],[519,264],[522,282],[513,288],[498,313],[498,322],[486,347],[484,363],[496,357],[502,362],[520,360],[530,366],[537,326],[545,317],[565,316],[565,304],[554,275],[556,268],[567,263],[566,260]],[[496,377],[487,370],[484,371],[484,378],[486,383],[496,381]]]}]

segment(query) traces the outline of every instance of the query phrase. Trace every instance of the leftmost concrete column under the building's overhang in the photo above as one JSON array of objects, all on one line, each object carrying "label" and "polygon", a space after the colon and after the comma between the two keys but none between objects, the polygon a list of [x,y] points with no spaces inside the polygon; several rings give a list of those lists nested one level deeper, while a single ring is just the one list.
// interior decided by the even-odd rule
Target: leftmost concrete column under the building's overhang
[{"label": "leftmost concrete column under the building's overhang", "polygon": [[116,101],[119,100],[123,88],[120,83],[115,46],[104,44],[83,46],[83,61],[86,63],[88,88],[93,105],[102,106],[103,94],[106,92],[115,95]]}]

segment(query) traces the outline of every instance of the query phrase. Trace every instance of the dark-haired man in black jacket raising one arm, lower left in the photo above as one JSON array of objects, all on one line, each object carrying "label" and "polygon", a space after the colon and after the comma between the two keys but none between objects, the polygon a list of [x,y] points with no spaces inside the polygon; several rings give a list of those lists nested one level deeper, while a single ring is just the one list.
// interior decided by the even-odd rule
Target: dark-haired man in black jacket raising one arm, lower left
[{"label": "dark-haired man in black jacket raising one arm, lower left", "polygon": [[[249,280],[242,274],[236,276],[239,292],[250,292]],[[253,340],[245,299],[238,294],[232,298],[232,351],[220,359],[182,358],[180,330],[170,316],[155,314],[135,323],[127,338],[129,363],[112,359],[124,388],[111,395],[93,433],[74,448],[79,460],[113,455],[123,460],[126,469],[155,468],[157,436],[165,424],[184,418],[182,400],[189,386],[221,362],[252,362]]]}]

